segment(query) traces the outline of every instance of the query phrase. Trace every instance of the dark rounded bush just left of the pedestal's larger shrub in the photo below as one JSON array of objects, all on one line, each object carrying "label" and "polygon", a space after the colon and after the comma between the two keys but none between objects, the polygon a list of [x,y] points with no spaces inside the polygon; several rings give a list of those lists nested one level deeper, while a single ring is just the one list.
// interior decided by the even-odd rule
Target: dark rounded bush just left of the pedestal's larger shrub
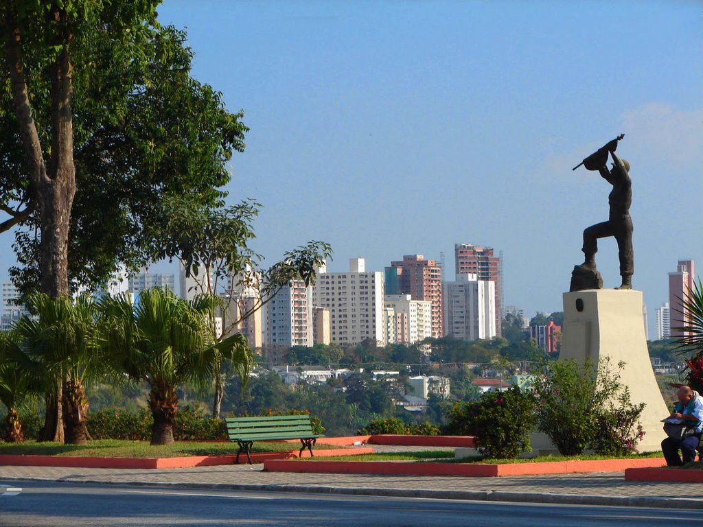
[{"label": "dark rounded bush just left of the pedestal's larger shrub", "polygon": [[504,392],[488,391],[479,401],[465,403],[466,428],[475,436],[479,453],[500,459],[531,451],[530,431],[536,424],[534,398],[512,386]]}]

